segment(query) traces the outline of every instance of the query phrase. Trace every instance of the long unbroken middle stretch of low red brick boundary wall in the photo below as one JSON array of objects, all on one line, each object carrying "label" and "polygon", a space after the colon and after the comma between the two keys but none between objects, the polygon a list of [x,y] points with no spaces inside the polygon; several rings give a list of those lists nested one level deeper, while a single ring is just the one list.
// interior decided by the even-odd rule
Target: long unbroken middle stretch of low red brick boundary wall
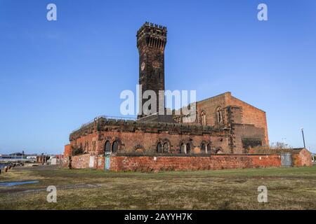
[{"label": "long unbroken middle stretch of low red brick boundary wall", "polygon": [[279,155],[212,155],[211,157],[159,156],[111,157],[112,171],[180,171],[204,169],[237,169],[279,167]]}]

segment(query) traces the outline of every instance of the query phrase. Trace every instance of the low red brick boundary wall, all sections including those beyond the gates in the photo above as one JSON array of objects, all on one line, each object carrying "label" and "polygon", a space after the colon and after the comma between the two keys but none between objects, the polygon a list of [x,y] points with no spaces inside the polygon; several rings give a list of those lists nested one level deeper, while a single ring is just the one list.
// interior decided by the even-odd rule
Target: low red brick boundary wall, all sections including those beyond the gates
[{"label": "low red brick boundary wall, all sections including those beyond the gates", "polygon": [[[73,169],[104,169],[105,157],[103,155],[92,156],[93,167],[89,167],[90,154],[72,156],[71,167]],[[296,167],[312,166],[310,152],[303,149],[299,153],[292,153],[293,165]],[[211,156],[110,156],[110,170],[112,171],[180,171],[180,170],[204,170],[204,169],[237,169],[280,167],[279,154],[256,155],[211,155]]]}]

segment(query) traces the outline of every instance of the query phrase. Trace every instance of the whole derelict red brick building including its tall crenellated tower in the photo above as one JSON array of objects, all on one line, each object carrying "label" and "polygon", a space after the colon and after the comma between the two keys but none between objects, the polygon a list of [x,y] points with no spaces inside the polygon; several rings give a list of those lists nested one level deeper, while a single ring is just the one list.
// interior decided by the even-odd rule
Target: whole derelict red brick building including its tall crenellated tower
[{"label": "whole derelict red brick building including its tall crenellated tower", "polygon": [[[137,32],[142,91],[164,90],[166,27],[146,22]],[[143,102],[143,99],[140,100]],[[157,103],[157,111],[159,111]],[[265,112],[225,92],[196,104],[195,120],[183,116],[145,116],[138,120],[98,117],[70,134],[65,156],[117,153],[240,154],[268,146]]]}]

